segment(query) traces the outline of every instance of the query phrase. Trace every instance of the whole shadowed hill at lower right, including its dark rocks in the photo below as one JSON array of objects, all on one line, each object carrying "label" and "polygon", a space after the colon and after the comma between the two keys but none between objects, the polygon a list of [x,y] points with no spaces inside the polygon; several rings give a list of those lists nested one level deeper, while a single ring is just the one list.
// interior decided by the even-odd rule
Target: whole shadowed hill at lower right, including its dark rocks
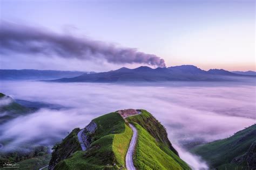
[{"label": "whole shadowed hill at lower right, including its dark rocks", "polygon": [[233,136],[191,150],[218,169],[256,169],[256,124]]}]

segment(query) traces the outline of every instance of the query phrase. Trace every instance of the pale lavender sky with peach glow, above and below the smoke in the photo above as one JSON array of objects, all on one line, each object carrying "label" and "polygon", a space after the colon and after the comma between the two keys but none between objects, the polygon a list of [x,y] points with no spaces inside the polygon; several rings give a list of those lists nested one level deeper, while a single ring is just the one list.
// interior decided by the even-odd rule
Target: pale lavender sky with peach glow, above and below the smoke
[{"label": "pale lavender sky with peach glow, above and below the smoke", "polygon": [[[137,48],[163,58],[168,67],[255,70],[254,1],[0,2],[2,21]],[[138,66],[18,54],[2,55],[1,62],[5,69],[103,71]]]}]

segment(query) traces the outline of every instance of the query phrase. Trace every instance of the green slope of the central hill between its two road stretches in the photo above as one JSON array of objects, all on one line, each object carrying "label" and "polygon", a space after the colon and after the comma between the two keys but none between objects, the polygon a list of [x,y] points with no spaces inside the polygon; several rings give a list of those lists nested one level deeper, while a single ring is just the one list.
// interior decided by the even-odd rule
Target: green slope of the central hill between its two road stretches
[{"label": "green slope of the central hill between its two road stretches", "polygon": [[55,169],[117,169],[125,166],[132,130],[116,112],[92,120],[97,129],[87,151],[77,151]]}]

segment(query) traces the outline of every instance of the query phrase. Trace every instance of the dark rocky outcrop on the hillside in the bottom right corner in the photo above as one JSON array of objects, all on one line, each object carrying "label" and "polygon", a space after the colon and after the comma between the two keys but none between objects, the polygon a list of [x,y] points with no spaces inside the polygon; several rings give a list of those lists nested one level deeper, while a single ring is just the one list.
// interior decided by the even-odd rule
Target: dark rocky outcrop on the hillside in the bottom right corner
[{"label": "dark rocky outcrop on the hillside in the bottom right corner", "polygon": [[250,169],[256,169],[256,141],[252,143],[248,151],[232,160],[232,163],[242,164],[246,163]]}]

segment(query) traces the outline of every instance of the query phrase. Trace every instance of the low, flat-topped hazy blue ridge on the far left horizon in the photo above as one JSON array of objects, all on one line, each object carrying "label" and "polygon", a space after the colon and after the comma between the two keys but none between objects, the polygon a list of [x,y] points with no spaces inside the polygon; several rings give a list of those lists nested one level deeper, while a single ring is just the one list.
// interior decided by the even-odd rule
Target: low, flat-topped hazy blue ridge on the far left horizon
[{"label": "low, flat-topped hazy blue ridge on the far left horizon", "polygon": [[52,80],[75,77],[87,72],[36,69],[0,69],[0,80]]}]

